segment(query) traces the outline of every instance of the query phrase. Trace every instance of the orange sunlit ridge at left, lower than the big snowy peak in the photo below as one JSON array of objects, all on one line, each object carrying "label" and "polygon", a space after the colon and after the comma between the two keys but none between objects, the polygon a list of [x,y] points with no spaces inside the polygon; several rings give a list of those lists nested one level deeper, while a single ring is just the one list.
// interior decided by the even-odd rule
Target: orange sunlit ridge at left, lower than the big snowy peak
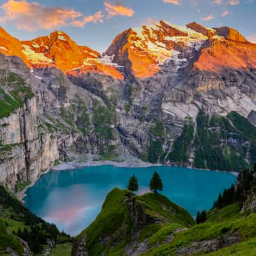
[{"label": "orange sunlit ridge at left, lower than the big snowy peak", "polygon": [[100,62],[99,52],[77,45],[61,31],[20,42],[0,28],[0,40],[1,53],[22,58],[29,68],[56,67],[65,74],[97,72],[116,79],[124,79],[115,66]]}]

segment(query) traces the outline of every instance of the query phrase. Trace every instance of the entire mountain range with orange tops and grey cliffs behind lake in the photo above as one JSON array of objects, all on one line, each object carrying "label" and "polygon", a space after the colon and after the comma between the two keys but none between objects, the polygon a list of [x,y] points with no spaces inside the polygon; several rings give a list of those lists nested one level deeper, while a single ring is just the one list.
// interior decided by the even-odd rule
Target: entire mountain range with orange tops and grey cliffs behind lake
[{"label": "entire mountain range with orange tops and grey cliffs behind lake", "polygon": [[12,189],[86,154],[232,171],[255,161],[256,45],[234,29],[161,21],[102,55],[61,31],[0,37],[0,180]]}]

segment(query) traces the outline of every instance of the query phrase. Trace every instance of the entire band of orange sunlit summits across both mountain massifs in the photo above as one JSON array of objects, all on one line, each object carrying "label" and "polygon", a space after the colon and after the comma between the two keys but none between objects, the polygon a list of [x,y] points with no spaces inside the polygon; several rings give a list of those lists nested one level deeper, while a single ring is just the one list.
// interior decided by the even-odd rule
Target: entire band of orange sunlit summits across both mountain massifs
[{"label": "entire band of orange sunlit summits across both mountain massifs", "polygon": [[160,21],[127,29],[102,56],[61,31],[20,42],[0,28],[0,40],[0,52],[22,58],[29,68],[56,67],[72,76],[93,72],[122,80],[125,73],[145,79],[163,68],[174,74],[188,64],[209,72],[256,68],[255,44],[235,29],[196,22],[181,27]]}]

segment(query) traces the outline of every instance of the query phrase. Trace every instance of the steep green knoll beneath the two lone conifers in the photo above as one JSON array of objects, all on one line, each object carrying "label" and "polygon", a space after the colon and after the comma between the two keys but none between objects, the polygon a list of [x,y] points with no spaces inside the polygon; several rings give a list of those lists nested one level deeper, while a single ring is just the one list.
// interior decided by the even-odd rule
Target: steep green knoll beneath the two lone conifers
[{"label": "steep green knoll beneath the two lone conifers", "polygon": [[132,195],[113,189],[97,219],[75,238],[72,255],[134,255],[147,248],[148,237],[161,228],[181,230],[194,225],[189,213],[163,195]]}]

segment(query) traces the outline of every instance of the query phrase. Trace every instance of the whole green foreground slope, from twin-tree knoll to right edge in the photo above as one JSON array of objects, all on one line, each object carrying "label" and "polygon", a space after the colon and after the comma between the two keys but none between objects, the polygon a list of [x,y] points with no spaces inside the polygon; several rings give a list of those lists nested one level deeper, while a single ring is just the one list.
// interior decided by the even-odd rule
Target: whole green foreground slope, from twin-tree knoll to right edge
[{"label": "whole green foreground slope, from twin-tree knoll to right edge", "polygon": [[72,255],[254,255],[255,186],[256,166],[240,173],[199,224],[165,196],[114,189]]}]

